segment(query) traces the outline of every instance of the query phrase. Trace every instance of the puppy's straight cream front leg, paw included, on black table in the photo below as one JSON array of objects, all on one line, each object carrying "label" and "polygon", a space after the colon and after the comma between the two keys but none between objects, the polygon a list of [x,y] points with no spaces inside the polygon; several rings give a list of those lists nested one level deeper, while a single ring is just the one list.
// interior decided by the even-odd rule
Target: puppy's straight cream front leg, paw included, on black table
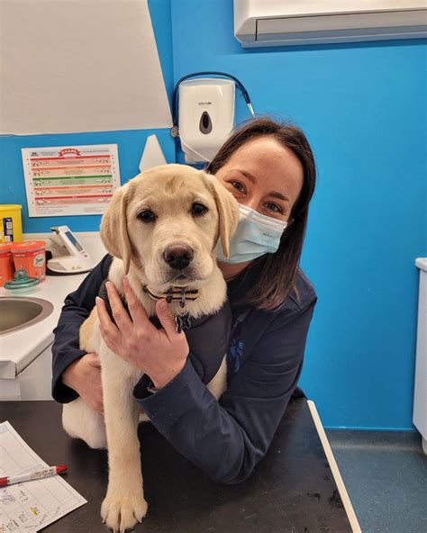
[{"label": "puppy's straight cream front leg, paw included, on black table", "polygon": [[111,351],[103,358],[102,372],[109,476],[101,516],[109,528],[122,532],[141,522],[147,513],[138,439],[139,409],[132,399],[136,379],[129,366]]}]

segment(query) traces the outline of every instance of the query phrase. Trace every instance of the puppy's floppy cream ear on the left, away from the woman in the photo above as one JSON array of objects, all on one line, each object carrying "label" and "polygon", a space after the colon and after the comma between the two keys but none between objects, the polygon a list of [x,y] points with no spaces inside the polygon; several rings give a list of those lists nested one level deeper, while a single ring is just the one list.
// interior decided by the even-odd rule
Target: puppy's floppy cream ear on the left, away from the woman
[{"label": "puppy's floppy cream ear on the left, away from the woman", "polygon": [[127,225],[127,206],[132,198],[132,187],[121,186],[113,194],[101,220],[101,239],[108,252],[123,260],[127,274],[131,266],[131,239]]}]

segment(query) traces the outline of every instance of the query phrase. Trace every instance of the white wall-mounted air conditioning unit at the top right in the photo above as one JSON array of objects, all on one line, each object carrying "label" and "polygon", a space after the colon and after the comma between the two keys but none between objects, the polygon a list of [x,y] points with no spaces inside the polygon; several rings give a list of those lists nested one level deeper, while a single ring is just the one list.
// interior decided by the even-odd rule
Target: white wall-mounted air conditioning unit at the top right
[{"label": "white wall-mounted air conditioning unit at the top right", "polygon": [[245,48],[427,37],[427,0],[234,0]]}]

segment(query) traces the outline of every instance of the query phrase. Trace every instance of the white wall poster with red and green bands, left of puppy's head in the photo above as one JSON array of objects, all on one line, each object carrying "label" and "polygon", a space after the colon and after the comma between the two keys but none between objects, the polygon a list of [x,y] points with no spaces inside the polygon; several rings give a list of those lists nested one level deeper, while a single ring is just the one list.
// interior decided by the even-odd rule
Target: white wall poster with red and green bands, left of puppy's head
[{"label": "white wall poster with red and green bands, left of puppy's head", "polygon": [[102,214],[120,187],[116,144],[22,152],[30,217]]}]

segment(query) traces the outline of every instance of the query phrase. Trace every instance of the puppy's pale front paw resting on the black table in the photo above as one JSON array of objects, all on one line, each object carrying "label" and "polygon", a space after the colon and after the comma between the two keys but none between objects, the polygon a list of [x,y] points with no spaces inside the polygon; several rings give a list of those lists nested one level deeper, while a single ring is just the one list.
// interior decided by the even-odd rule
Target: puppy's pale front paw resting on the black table
[{"label": "puppy's pale front paw resting on the black table", "polygon": [[108,490],[101,506],[101,517],[114,533],[133,528],[146,514],[147,501],[142,488],[126,493]]}]

